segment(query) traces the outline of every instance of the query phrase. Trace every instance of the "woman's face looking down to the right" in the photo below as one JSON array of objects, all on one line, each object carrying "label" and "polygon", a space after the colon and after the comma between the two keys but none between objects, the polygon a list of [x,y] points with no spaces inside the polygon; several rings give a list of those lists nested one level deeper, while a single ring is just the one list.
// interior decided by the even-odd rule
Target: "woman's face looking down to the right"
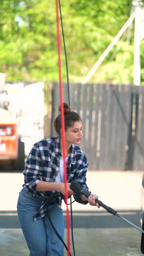
[{"label": "woman's face looking down to the right", "polygon": [[65,131],[65,143],[80,144],[82,138],[82,122],[77,121]]}]

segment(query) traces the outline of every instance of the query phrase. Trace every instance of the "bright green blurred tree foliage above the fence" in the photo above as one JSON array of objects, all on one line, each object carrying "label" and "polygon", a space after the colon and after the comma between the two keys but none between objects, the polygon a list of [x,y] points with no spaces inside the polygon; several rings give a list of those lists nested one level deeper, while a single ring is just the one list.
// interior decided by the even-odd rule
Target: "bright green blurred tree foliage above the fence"
[{"label": "bright green blurred tree foliage above the fence", "polygon": [[[61,1],[70,82],[82,82],[130,16],[129,0]],[[142,1],[144,3],[144,1]],[[0,72],[7,80],[58,81],[56,2],[0,0]],[[59,22],[61,25],[61,22]],[[90,82],[133,83],[134,26]],[[141,41],[141,63],[144,63]],[[62,79],[67,80],[61,31]],[[141,65],[144,82],[144,66]]]}]

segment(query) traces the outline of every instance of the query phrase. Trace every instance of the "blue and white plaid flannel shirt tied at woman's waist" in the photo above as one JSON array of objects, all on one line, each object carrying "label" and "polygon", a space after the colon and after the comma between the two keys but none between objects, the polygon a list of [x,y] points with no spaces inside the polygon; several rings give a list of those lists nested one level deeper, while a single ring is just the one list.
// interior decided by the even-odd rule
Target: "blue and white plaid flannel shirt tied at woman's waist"
[{"label": "blue and white plaid flannel shirt tied at woman's waist", "polygon": [[[35,196],[43,196],[43,202],[39,210],[34,215],[34,220],[43,218],[47,211],[47,200],[55,193],[55,191],[36,191],[39,181],[55,182],[59,171],[59,164],[61,159],[61,147],[59,137],[45,138],[35,143],[31,149],[26,160],[25,170],[25,184],[23,187]],[[83,189],[88,190],[86,185],[86,172],[88,162],[82,150],[72,144],[71,153],[67,160],[67,182],[77,181],[81,184]],[[82,200],[76,200],[79,203],[86,204]],[[57,199],[58,206],[61,208],[62,198]]]}]

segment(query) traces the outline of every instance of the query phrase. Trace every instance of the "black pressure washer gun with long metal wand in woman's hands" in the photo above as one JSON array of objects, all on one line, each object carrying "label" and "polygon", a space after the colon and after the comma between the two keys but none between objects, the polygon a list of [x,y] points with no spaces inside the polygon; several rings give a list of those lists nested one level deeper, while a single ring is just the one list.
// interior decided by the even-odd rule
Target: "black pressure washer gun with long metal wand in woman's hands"
[{"label": "black pressure washer gun with long metal wand in woman's hands", "polygon": [[[89,192],[88,190],[83,190],[82,186],[80,185],[79,182],[73,181],[70,184],[70,188],[71,190],[74,191],[74,194],[79,195],[79,197],[81,195],[85,195],[87,198],[89,197],[89,195],[91,195],[91,192]],[[142,230],[141,228],[139,228],[139,226],[136,226],[135,224],[131,223],[129,220],[125,219],[124,217],[120,216],[117,211],[113,210],[111,207],[105,205],[103,202],[101,202],[100,200],[96,199],[95,200],[96,203],[99,204],[99,206],[103,207],[107,212],[113,214],[114,216],[117,216],[121,219],[124,220],[124,222],[127,222],[128,224],[130,224],[131,226],[133,226],[135,229],[139,230],[140,232],[142,232],[144,234],[144,230]]]}]

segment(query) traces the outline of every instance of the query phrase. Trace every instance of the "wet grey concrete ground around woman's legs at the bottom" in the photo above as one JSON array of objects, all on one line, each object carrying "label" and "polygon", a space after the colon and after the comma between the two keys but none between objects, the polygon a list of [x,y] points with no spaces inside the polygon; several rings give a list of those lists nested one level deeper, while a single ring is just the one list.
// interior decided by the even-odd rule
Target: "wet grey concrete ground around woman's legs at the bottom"
[{"label": "wet grey concrete ground around woman's legs at the bottom", "polygon": [[[67,232],[65,230],[65,232]],[[1,256],[28,256],[20,229],[0,230]],[[67,242],[67,240],[65,241]],[[74,229],[76,256],[140,256],[140,234],[134,229]],[[71,255],[73,247],[71,245]],[[67,255],[65,250],[65,256]],[[42,255],[41,255],[42,256]]]}]

